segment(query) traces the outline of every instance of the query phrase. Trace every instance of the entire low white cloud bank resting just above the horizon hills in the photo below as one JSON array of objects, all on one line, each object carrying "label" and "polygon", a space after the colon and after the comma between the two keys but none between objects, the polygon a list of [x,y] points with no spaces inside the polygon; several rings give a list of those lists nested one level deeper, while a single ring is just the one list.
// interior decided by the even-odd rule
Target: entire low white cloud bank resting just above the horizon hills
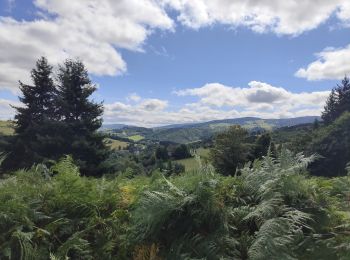
[{"label": "entire low white cloud bank resting just above the horizon hills", "polygon": [[284,88],[252,81],[246,88],[219,83],[174,92],[177,96],[195,96],[194,103],[172,109],[166,100],[142,99],[133,103],[105,105],[104,120],[141,126],[193,123],[214,119],[255,116],[287,118],[320,115],[329,91],[292,93]]}]

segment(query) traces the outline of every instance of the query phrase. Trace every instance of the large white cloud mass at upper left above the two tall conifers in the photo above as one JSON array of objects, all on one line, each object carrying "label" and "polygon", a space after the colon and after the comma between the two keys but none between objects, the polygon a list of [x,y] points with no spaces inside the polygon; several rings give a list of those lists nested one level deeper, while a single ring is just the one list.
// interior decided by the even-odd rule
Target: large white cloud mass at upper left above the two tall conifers
[{"label": "large white cloud mass at upper left above the two tall conifers", "polygon": [[[126,71],[119,48],[142,51],[153,29],[173,21],[153,0],[36,0],[33,21],[0,17],[0,88],[17,90],[42,55],[53,64],[79,57],[96,75]],[[141,11],[142,10],[142,11]]]}]

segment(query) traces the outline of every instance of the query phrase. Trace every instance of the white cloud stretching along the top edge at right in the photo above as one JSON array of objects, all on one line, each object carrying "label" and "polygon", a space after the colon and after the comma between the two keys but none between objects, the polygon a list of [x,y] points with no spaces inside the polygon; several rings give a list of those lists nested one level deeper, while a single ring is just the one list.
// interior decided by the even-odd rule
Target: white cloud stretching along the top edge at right
[{"label": "white cloud stretching along the top edge at right", "polygon": [[163,0],[180,13],[186,26],[200,28],[215,23],[246,26],[256,32],[297,35],[314,29],[333,13],[342,22],[350,18],[348,0]]}]

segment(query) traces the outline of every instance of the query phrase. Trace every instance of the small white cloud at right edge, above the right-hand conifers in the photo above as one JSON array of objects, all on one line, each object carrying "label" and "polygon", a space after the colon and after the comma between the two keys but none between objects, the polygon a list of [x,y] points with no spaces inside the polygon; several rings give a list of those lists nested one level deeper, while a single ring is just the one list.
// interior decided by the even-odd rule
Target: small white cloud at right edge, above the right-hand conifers
[{"label": "small white cloud at right edge, above the right-hand conifers", "polygon": [[[350,13],[350,10],[349,10]],[[317,60],[295,75],[308,80],[341,79],[350,73],[350,44],[345,48],[326,48],[317,54]]]}]

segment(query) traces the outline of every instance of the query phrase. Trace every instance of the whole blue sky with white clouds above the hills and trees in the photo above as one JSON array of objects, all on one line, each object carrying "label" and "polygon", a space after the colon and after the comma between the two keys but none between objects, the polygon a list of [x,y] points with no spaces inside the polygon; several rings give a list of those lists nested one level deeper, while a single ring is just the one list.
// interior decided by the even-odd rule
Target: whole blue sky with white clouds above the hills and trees
[{"label": "whole blue sky with white clouds above the hills and trees", "polygon": [[0,0],[0,119],[41,56],[84,62],[105,123],[320,115],[350,75],[350,1]]}]

